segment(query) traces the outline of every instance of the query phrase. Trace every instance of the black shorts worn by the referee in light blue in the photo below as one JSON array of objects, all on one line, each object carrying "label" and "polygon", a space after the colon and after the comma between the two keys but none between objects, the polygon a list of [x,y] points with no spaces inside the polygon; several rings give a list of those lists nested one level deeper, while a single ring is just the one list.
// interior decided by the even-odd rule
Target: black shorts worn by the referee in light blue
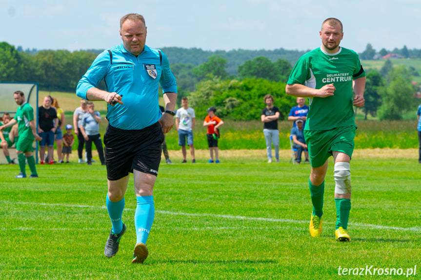
[{"label": "black shorts worn by the referee in light blue", "polygon": [[136,169],[158,176],[164,134],[159,122],[141,130],[120,130],[110,125],[104,134],[107,178],[119,180]]}]

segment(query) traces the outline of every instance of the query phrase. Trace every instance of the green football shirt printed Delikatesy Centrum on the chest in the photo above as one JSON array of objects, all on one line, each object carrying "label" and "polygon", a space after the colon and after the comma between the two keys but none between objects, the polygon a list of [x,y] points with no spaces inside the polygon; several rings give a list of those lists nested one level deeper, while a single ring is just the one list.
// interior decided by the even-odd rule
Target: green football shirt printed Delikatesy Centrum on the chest
[{"label": "green football shirt printed Delikatesy Centrum on the chest", "polygon": [[349,49],[341,47],[337,53],[329,54],[320,47],[301,56],[287,84],[301,84],[313,89],[333,84],[336,88],[332,96],[309,97],[310,109],[304,130],[355,125],[352,79],[364,76],[360,58]]}]

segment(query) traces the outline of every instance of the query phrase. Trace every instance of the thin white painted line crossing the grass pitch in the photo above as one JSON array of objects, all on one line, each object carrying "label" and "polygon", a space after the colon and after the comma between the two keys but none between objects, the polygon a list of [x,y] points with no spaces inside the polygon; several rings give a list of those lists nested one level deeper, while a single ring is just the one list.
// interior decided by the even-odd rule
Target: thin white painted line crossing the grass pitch
[{"label": "thin white painted line crossing the grass pitch", "polygon": [[[60,207],[72,207],[72,208],[96,208],[106,209],[106,206],[92,206],[92,205],[70,205],[70,204],[57,204],[57,203],[37,203],[37,202],[10,202],[1,201],[2,204],[30,204],[30,205],[42,205],[42,206],[60,206]],[[135,211],[136,209],[124,208],[125,211]],[[247,216],[235,216],[235,215],[221,215],[221,214],[207,214],[207,213],[183,213],[183,212],[172,212],[167,210],[156,210],[156,213],[173,216],[189,216],[189,217],[213,217],[229,220],[244,220],[244,221],[259,221],[259,222],[272,222],[272,223],[292,223],[292,224],[308,224],[308,220],[292,220],[292,219],[273,219],[273,218],[262,218],[262,217],[247,217]],[[333,224],[333,223],[325,223]],[[385,226],[379,224],[362,224],[362,223],[349,223],[356,227],[368,227],[373,229],[393,229],[398,231],[416,231],[421,232],[421,227],[399,227],[399,226]]]}]

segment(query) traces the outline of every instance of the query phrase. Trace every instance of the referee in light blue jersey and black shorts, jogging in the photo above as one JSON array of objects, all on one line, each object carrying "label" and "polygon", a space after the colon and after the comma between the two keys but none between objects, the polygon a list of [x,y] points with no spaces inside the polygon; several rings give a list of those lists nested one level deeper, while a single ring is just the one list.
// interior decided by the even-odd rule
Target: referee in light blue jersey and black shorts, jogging
[{"label": "referee in light blue jersey and black shorts, jogging", "polygon": [[[80,79],[76,93],[91,101],[108,103],[109,125],[104,134],[108,193],[106,205],[112,229],[104,254],[113,257],[126,231],[121,216],[124,193],[133,173],[137,208],[137,241],[132,262],[148,256],[146,240],[155,216],[153,187],[158,175],[164,133],[174,126],[177,83],[168,58],[145,45],[145,19],[128,14],[120,19],[122,43],[101,53]],[[96,86],[104,79],[106,91]],[[158,87],[163,89],[165,111],[158,104]]]}]

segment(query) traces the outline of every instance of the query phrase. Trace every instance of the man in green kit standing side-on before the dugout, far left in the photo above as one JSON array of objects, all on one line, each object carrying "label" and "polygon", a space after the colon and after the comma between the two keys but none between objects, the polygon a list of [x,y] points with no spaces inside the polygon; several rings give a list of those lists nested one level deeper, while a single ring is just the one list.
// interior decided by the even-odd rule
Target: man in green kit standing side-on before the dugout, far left
[{"label": "man in green kit standing side-on before the dugout, far left", "polygon": [[34,140],[40,141],[42,138],[37,134],[36,125],[34,121],[34,109],[31,105],[25,102],[25,96],[21,91],[13,93],[16,104],[20,107],[16,112],[15,117],[7,124],[0,126],[0,131],[18,124],[19,138],[16,142],[16,154],[18,155],[20,173],[15,178],[26,178],[25,171],[25,157],[28,161],[29,169],[31,169],[31,176],[29,178],[37,178],[37,168],[35,167],[35,159],[33,156],[32,143]]}]

